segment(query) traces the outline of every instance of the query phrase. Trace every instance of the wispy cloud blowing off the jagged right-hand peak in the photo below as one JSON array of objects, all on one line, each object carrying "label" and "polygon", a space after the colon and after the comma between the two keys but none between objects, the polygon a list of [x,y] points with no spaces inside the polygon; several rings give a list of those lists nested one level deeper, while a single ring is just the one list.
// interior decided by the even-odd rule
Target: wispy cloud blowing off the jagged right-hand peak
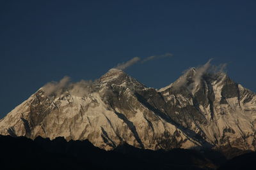
[{"label": "wispy cloud blowing off the jagged right-hand peak", "polygon": [[200,84],[202,80],[202,76],[207,73],[216,74],[216,73],[225,73],[225,68],[227,64],[220,64],[219,66],[214,66],[211,64],[211,60],[209,59],[203,66],[198,66],[195,68],[190,68],[184,71],[184,74],[175,82],[173,83],[173,89],[180,89],[180,87],[186,86],[188,83],[188,78],[191,77],[193,83],[191,83],[191,88],[196,88],[197,85]]}]

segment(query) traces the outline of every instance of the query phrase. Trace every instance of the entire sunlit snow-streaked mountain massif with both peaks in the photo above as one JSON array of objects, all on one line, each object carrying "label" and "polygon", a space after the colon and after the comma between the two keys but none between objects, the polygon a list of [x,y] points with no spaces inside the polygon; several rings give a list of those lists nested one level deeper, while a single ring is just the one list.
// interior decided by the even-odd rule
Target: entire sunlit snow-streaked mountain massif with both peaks
[{"label": "entire sunlit snow-streaked mountain massif with both peaks", "polygon": [[224,73],[200,81],[195,73],[160,90],[118,69],[100,77],[86,96],[68,90],[47,96],[43,87],[0,120],[0,134],[88,139],[106,150],[124,142],[152,150],[255,150],[256,95]]}]

